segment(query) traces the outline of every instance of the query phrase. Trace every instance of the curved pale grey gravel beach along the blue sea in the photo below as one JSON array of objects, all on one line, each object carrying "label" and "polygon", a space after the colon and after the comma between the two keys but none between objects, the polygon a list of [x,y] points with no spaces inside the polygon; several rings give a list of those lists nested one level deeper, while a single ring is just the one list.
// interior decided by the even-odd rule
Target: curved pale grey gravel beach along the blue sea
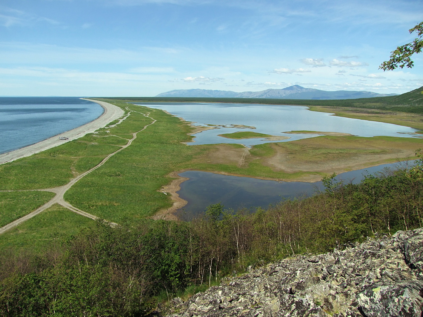
[{"label": "curved pale grey gravel beach along the blue sea", "polygon": [[[31,145],[27,145],[23,148],[19,148],[10,152],[6,152],[6,153],[2,153],[0,154],[0,164],[4,164],[4,163],[8,163],[8,162],[12,162],[15,161],[19,158],[23,158],[23,157],[27,157],[27,156],[31,156],[33,154],[48,150],[50,148],[54,148],[58,145],[61,145],[65,142],[69,142],[72,141],[74,139],[78,139],[80,137],[83,137],[85,134],[88,133],[93,133],[94,131],[98,130],[99,128],[104,128],[105,126],[107,126],[108,123],[121,118],[124,115],[124,110],[122,110],[121,108],[113,105],[113,104],[109,104],[108,102],[105,101],[98,101],[98,100],[93,100],[93,99],[86,99],[86,98],[81,98],[83,100],[88,100],[88,101],[92,101],[95,102],[97,104],[99,104],[103,109],[103,113],[102,115],[100,115],[98,118],[85,123],[82,126],[79,126],[77,128],[74,128],[72,130],[69,131],[65,131],[63,133],[60,134],[56,134],[53,137],[49,137],[48,139],[42,140],[40,142],[31,144]],[[59,137],[67,137],[67,140],[60,140]]]}]

